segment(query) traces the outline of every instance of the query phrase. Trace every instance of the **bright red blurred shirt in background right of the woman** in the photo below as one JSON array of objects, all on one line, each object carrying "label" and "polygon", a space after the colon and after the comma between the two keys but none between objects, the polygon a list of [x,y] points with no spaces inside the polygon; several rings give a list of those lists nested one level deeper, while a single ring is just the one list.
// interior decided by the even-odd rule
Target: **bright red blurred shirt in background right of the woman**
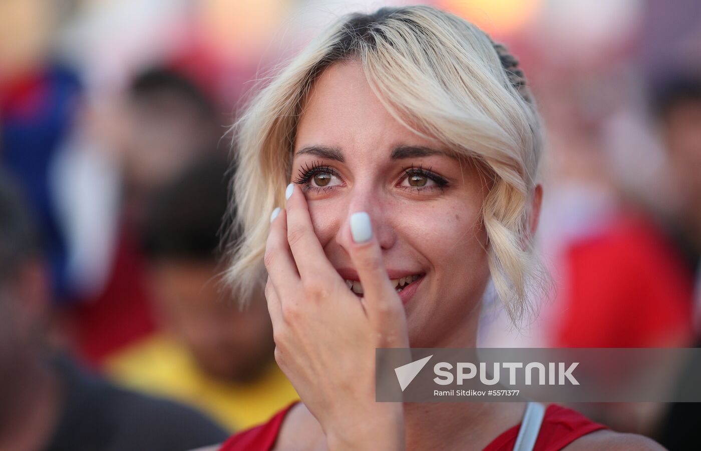
[{"label": "bright red blurred shirt in background right of the woman", "polygon": [[683,347],[693,279],[646,219],[619,216],[564,256],[554,347]]}]

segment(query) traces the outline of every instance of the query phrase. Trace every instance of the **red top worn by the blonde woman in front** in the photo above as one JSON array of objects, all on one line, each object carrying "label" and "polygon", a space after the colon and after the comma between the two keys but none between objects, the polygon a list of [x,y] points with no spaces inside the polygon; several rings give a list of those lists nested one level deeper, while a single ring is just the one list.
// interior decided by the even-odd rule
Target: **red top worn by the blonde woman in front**
[{"label": "red top worn by the blonde woman in front", "polygon": [[[292,406],[288,405],[276,413],[267,423],[239,432],[226,440],[219,451],[269,451],[278,438],[280,425]],[[483,451],[511,451],[519,435],[521,424],[513,426],[492,440]],[[584,415],[562,405],[550,404],[545,410],[543,424],[540,426],[538,440],[533,451],[558,451],[587,433],[606,429],[606,426],[594,423]]]}]

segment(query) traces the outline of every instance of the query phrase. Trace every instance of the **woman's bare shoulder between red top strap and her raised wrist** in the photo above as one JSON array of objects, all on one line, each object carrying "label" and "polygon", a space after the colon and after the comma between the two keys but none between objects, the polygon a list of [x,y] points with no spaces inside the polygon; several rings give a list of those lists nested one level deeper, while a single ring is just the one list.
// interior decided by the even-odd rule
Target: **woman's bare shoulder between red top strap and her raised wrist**
[{"label": "woman's bare shoulder between red top strap and her raised wrist", "polygon": [[297,403],[285,415],[274,450],[323,449],[325,443],[324,431],[317,419],[304,403]]}]

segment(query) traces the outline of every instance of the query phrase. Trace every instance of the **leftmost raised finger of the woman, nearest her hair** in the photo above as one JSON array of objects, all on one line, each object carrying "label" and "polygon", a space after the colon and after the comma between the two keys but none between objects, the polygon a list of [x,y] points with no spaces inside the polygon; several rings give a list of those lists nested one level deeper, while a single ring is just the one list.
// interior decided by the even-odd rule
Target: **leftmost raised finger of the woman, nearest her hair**
[{"label": "leftmost raised finger of the woman, nearest her hair", "polygon": [[290,252],[290,245],[287,244],[287,221],[284,209],[273,211],[273,222],[270,225],[268,240],[266,242],[265,256],[263,264],[268,271],[275,291],[280,293],[294,293],[299,289],[299,275],[294,259]]}]

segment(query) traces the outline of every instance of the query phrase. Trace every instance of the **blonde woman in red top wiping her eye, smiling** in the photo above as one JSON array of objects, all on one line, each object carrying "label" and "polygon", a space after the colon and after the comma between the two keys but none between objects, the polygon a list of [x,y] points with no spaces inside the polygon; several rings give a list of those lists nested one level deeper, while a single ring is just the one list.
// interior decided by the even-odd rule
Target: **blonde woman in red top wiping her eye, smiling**
[{"label": "blonde woman in red top wiping her eye, smiling", "polygon": [[[524,403],[376,403],[374,355],[474,347],[490,278],[515,323],[529,310],[541,141],[516,60],[434,8],[351,15],[236,132],[231,281],[249,298],[264,263],[301,403],[222,450],[512,449]],[[660,449],[557,405],[539,430],[536,450]]]}]

